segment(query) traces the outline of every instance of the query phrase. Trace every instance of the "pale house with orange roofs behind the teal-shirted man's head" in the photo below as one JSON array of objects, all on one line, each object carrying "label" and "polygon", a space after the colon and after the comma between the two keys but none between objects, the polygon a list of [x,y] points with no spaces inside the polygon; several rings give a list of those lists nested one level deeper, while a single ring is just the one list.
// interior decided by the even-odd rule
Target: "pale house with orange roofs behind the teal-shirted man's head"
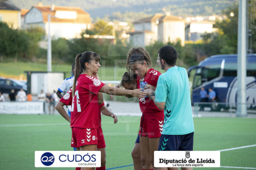
[{"label": "pale house with orange roofs behind the teal-shirted man's head", "polygon": [[134,46],[148,46],[155,41],[166,43],[181,39],[185,42],[185,22],[173,15],[155,14],[152,17],[142,18],[134,22],[135,31],[129,32],[130,42]]}]

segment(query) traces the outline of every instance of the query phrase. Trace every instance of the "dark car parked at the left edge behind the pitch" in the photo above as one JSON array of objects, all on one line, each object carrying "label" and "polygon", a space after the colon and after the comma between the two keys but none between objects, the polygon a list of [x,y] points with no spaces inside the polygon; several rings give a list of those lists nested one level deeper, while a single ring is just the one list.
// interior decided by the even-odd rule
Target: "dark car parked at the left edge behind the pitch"
[{"label": "dark car parked at the left edge behind the pitch", "polygon": [[16,94],[20,89],[23,89],[27,93],[27,87],[23,86],[22,83],[17,83],[12,79],[0,78],[0,91],[9,94],[11,89],[14,89]]}]

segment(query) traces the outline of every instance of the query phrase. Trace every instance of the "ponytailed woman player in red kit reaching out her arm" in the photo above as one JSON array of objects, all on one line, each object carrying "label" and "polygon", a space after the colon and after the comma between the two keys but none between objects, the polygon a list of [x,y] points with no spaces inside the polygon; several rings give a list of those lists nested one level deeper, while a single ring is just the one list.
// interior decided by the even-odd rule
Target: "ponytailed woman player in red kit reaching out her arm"
[{"label": "ponytailed woman player in red kit reaching out her arm", "polygon": [[[98,144],[98,93],[105,92],[113,95],[132,95],[143,98],[146,96],[141,89],[134,91],[117,89],[106,86],[93,77],[100,68],[100,56],[95,52],[83,52],[75,59],[75,78],[72,91],[71,147],[79,147],[81,151],[96,151]],[[83,70],[80,74],[80,70]],[[102,101],[101,101],[102,102]],[[87,136],[87,132],[90,136]],[[94,168],[81,168],[94,169]]]}]

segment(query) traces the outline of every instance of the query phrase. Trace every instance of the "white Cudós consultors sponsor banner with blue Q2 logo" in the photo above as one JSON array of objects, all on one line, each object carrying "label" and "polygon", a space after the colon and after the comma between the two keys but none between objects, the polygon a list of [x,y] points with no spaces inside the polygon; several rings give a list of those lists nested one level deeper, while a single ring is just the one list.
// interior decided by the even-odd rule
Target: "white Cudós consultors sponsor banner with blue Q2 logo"
[{"label": "white Cud\u00f3s consultors sponsor banner with blue Q2 logo", "polygon": [[35,167],[100,166],[100,151],[35,151]]}]

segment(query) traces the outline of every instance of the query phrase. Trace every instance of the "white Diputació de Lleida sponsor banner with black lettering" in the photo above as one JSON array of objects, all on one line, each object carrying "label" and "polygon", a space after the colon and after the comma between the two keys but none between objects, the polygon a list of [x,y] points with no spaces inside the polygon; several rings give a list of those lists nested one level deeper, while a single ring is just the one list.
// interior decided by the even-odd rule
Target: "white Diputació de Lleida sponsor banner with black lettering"
[{"label": "white Diputaci\u00f3 de Lleida sponsor banner with black lettering", "polygon": [[155,167],[220,167],[220,151],[155,151]]}]

